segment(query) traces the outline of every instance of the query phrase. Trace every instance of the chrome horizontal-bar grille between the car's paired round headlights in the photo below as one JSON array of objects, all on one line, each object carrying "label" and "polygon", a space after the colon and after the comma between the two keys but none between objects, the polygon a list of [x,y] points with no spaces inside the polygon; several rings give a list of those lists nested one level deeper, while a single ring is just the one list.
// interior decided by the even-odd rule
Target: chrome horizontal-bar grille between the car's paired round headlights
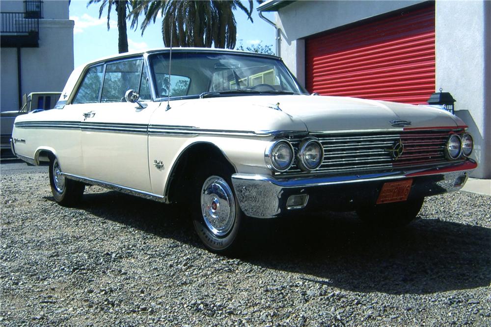
[{"label": "chrome horizontal-bar grille between the car's paired round headlights", "polygon": [[[312,135],[324,147],[324,161],[316,172],[383,172],[415,166],[436,166],[447,162],[445,144],[450,130],[405,131],[402,133]],[[290,140],[298,151],[301,139]],[[397,159],[391,154],[396,143],[404,145]],[[295,163],[281,175],[309,174]]]}]

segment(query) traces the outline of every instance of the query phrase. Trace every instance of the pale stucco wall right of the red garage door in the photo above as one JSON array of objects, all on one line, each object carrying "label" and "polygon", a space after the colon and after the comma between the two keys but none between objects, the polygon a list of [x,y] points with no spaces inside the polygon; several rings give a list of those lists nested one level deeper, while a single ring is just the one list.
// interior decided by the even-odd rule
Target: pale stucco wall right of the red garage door
[{"label": "pale stucco wall right of the red garage door", "polygon": [[474,137],[472,176],[481,178],[491,178],[490,4],[436,1],[436,89],[457,100],[455,114]]}]

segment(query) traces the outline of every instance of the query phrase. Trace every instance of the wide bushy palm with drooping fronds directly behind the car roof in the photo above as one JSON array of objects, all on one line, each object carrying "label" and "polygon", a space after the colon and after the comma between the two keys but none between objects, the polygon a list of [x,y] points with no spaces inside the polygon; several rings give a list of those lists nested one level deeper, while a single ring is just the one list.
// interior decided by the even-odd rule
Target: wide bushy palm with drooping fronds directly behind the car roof
[{"label": "wide bushy palm with drooping fronds directly behind the car roof", "polygon": [[252,0],[247,9],[240,0],[150,0],[132,1],[131,27],[137,25],[140,14],[144,15],[141,34],[157,17],[162,20],[162,38],[166,47],[207,47],[235,48],[237,24],[233,11],[241,9],[252,22]]}]

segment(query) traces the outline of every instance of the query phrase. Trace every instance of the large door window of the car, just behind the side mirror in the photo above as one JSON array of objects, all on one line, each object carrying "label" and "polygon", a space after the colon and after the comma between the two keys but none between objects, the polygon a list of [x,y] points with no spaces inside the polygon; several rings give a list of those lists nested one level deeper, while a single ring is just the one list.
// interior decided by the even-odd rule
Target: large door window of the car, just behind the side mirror
[{"label": "large door window of the car, just behind the side mirror", "polygon": [[[143,59],[125,60],[106,65],[101,102],[125,101],[126,91],[138,92]],[[148,92],[150,93],[150,92]]]}]

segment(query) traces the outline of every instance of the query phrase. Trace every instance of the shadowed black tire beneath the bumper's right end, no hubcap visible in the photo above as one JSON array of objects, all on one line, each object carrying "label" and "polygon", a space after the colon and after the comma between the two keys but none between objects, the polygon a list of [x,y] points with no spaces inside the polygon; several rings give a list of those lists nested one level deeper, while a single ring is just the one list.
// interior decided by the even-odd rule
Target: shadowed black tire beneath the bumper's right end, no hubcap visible
[{"label": "shadowed black tire beneath the bumper's right end, no hubcap visible", "polygon": [[406,226],[416,219],[424,198],[364,206],[356,210],[358,217],[370,226],[395,228]]}]

